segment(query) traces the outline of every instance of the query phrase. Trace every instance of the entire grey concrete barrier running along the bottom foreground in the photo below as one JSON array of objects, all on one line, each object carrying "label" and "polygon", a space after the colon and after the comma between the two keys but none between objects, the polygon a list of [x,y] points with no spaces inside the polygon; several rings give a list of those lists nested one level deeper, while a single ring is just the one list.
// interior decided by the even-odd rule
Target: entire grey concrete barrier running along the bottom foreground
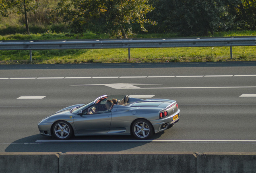
[{"label": "entire grey concrete barrier running along the bottom foreground", "polygon": [[0,153],[0,173],[256,173],[256,153]]}]

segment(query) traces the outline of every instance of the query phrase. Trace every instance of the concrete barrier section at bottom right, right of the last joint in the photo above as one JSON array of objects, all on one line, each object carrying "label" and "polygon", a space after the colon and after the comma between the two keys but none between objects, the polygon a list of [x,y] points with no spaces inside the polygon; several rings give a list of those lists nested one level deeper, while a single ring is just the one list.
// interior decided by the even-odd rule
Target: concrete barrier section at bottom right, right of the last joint
[{"label": "concrete barrier section at bottom right, right of the last joint", "polygon": [[256,153],[200,153],[196,173],[256,173]]}]

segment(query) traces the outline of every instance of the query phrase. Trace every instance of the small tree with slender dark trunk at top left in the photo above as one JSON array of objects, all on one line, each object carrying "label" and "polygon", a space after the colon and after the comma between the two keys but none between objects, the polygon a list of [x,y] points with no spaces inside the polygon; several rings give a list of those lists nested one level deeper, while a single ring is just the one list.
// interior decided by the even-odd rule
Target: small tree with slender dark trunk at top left
[{"label": "small tree with slender dark trunk at top left", "polygon": [[17,14],[23,14],[25,19],[25,25],[27,33],[29,32],[29,22],[27,18],[27,12],[34,12],[38,8],[37,0],[5,0],[8,8],[12,9],[12,12]]}]

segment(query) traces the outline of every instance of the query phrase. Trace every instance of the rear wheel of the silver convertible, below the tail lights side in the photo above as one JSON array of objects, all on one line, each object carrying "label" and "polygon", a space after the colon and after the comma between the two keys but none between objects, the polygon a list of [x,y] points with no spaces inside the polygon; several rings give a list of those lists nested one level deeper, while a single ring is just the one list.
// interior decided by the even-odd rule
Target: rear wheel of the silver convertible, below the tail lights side
[{"label": "rear wheel of the silver convertible, below the tail lights side", "polygon": [[151,123],[145,119],[134,121],[131,131],[136,139],[149,139],[154,133]]}]

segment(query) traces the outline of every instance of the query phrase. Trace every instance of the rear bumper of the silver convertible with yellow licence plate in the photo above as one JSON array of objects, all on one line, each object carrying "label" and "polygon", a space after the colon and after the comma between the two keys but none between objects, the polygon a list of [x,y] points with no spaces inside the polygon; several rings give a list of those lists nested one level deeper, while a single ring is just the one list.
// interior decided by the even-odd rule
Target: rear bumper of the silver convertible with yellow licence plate
[{"label": "rear bumper of the silver convertible with yellow licence plate", "polygon": [[[175,115],[178,115],[178,118],[173,121],[173,117]],[[153,125],[153,127],[155,129],[155,133],[159,133],[161,131],[169,129],[175,123],[177,123],[179,120],[180,120],[180,110],[178,112],[176,112],[175,114],[173,114],[169,117],[166,117],[164,119],[153,120],[153,121],[151,121],[151,124]]]}]

